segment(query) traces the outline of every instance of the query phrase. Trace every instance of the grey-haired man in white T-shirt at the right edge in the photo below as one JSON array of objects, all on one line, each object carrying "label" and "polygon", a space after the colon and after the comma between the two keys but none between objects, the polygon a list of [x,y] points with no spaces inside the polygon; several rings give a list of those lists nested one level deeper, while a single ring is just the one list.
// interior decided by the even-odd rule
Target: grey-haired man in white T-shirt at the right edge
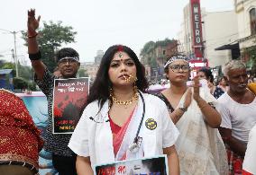
[{"label": "grey-haired man in white T-shirt at the right edge", "polygon": [[217,109],[222,116],[219,130],[231,158],[230,171],[240,173],[249,132],[256,124],[256,98],[247,89],[246,66],[241,61],[233,60],[224,66],[224,79],[230,88],[218,99]]}]

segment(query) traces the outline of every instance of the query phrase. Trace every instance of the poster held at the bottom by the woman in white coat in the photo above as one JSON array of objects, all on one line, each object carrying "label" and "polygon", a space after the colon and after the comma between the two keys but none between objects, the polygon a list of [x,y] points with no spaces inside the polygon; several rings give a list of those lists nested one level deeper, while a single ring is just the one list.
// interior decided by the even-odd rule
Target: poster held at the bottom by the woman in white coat
[{"label": "poster held at the bottom by the woman in white coat", "polygon": [[166,155],[96,165],[95,175],[168,175]]}]

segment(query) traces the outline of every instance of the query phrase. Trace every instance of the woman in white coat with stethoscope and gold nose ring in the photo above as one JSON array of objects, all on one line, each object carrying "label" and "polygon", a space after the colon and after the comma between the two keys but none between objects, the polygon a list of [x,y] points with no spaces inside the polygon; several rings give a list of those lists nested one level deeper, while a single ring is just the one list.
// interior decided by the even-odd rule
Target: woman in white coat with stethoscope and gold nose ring
[{"label": "woman in white coat with stethoscope and gold nose ring", "polygon": [[78,174],[93,174],[96,164],[160,154],[168,156],[169,174],[179,174],[178,129],[164,102],[144,93],[147,88],[144,68],[131,48],[106,50],[69,142],[78,154]]}]

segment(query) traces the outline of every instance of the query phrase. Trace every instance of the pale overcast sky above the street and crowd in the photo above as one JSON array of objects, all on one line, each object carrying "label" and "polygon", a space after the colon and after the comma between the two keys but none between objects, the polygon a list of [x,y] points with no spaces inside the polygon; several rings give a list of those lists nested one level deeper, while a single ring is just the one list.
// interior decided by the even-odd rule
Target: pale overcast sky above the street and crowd
[{"label": "pale overcast sky above the street and crowd", "polygon": [[[14,61],[14,34],[26,30],[27,10],[36,9],[41,22],[59,22],[78,31],[76,43],[63,45],[78,50],[81,62],[94,61],[97,50],[114,44],[132,48],[139,56],[150,40],[176,39],[189,0],[7,0],[0,10],[0,59]],[[233,0],[201,0],[208,12],[233,10]],[[42,26],[42,23],[41,23]],[[21,33],[16,35],[17,57],[30,64]]]}]

